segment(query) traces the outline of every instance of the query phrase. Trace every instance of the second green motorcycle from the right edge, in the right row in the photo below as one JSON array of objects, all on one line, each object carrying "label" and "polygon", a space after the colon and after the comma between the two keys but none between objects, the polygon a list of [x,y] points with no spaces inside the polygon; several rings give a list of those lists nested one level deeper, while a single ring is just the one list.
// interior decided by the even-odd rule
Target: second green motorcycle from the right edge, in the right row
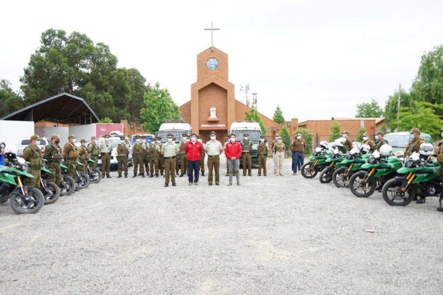
[{"label": "second green motorcycle from the right edge, in the right row", "polygon": [[361,165],[361,169],[349,179],[349,189],[357,197],[369,197],[377,188],[398,174],[396,171],[403,167],[403,163],[394,156],[381,156],[379,151],[373,152],[369,162]]}]

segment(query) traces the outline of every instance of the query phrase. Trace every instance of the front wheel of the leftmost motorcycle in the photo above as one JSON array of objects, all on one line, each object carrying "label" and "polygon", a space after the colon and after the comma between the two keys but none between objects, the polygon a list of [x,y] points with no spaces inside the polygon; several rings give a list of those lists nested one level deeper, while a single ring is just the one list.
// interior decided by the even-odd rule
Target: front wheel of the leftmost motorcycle
[{"label": "front wheel of the leftmost motorcycle", "polygon": [[11,207],[15,214],[37,213],[45,202],[42,192],[35,187],[28,187],[28,193],[23,196],[17,187],[10,195]]}]

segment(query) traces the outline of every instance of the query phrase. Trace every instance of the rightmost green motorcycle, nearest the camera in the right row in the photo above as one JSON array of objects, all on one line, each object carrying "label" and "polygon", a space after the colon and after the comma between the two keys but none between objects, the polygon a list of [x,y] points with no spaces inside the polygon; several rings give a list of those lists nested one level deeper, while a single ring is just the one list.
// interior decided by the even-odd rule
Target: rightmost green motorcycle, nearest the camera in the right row
[{"label": "rightmost green motorcycle, nearest the camera in the right row", "polygon": [[382,195],[389,205],[406,206],[416,196],[440,197],[440,208],[442,208],[440,164],[428,157],[414,152],[406,159],[404,167],[397,170],[402,176],[385,183]]}]

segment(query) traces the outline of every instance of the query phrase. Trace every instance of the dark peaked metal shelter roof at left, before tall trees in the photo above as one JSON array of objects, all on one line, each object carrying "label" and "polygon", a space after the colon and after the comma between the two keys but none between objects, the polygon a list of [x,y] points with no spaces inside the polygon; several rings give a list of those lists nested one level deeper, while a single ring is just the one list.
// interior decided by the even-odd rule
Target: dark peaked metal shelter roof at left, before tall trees
[{"label": "dark peaked metal shelter roof at left, before tall trees", "polygon": [[99,118],[83,98],[64,92],[28,105],[0,120],[34,122],[48,120],[75,125],[99,122]]}]

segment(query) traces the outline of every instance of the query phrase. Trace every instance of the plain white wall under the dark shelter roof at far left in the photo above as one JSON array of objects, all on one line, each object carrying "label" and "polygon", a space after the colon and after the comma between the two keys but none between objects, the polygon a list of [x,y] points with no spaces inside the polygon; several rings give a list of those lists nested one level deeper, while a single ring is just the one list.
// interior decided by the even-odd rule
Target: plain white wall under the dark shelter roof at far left
[{"label": "plain white wall under the dark shelter roof at far left", "polygon": [[0,142],[6,146],[21,144],[25,138],[31,138],[34,134],[34,122],[0,120]]}]

